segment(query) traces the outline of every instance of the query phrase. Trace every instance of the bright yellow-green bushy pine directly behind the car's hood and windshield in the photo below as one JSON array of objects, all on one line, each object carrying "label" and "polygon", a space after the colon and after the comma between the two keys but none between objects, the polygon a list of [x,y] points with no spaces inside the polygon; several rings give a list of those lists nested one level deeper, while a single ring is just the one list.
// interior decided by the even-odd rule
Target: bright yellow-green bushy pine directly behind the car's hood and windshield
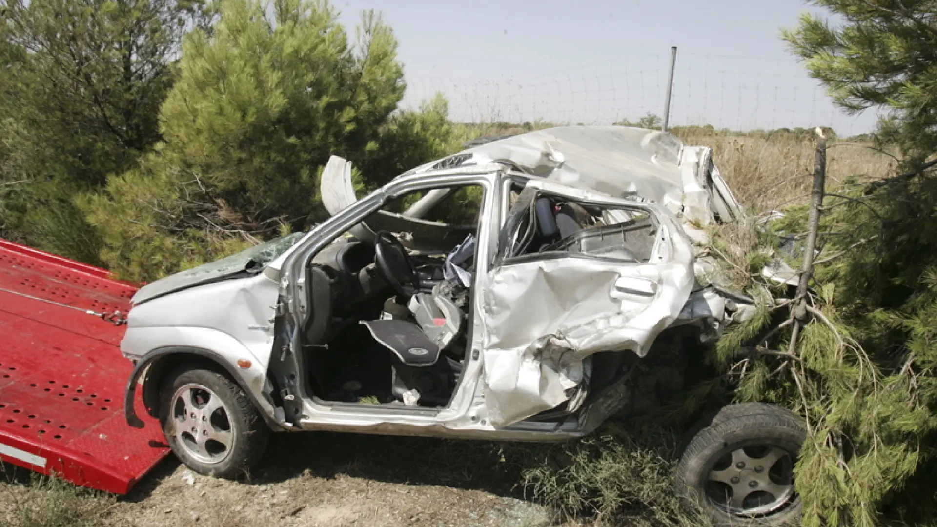
[{"label": "bright yellow-green bushy pine directly behind the car's hood and windshield", "polygon": [[332,154],[373,188],[443,152],[444,99],[394,113],[404,83],[391,29],[365,12],[351,45],[336,15],[325,2],[231,0],[211,32],[186,37],[163,141],[82,199],[112,270],[152,279],[308,228],[327,217],[319,175]]}]

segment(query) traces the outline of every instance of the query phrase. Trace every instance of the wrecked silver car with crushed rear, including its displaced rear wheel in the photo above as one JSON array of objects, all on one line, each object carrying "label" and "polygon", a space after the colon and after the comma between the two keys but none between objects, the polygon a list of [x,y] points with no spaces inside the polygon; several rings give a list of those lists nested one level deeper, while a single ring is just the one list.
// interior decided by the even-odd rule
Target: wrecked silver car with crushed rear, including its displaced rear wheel
[{"label": "wrecked silver car with crushed rear, including its displaced rear wheel", "polygon": [[[133,298],[127,420],[142,426],[142,390],[199,473],[238,474],[270,430],[579,437],[658,405],[681,387],[693,344],[752,311],[696,278],[701,227],[739,205],[710,150],[667,133],[530,132],[360,200],[350,163],[332,158],[321,187],[333,217],[311,232]],[[761,412],[750,410],[706,430],[735,430]],[[717,521],[796,514],[799,444],[775,437],[773,412],[737,441],[691,444],[705,452],[685,459],[699,474],[681,492]]]}]

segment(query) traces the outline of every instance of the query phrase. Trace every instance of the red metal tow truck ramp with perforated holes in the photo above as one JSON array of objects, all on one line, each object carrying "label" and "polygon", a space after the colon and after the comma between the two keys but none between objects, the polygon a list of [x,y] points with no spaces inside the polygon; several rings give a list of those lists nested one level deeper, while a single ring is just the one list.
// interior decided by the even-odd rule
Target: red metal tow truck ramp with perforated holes
[{"label": "red metal tow truck ramp with perforated holes", "polygon": [[132,365],[118,348],[126,325],[115,323],[135,291],[0,239],[0,460],[124,494],[167,455],[139,396],[146,426],[124,419]]}]

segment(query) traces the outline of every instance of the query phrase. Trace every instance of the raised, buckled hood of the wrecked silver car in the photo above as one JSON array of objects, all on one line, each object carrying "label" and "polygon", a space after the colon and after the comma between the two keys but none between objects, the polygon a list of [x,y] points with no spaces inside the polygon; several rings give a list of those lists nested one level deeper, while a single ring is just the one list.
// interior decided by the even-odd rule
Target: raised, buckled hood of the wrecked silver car
[{"label": "raised, buckled hood of the wrecked silver car", "polygon": [[305,233],[292,233],[275,238],[215,262],[202,264],[164,279],[158,279],[141,287],[140,291],[133,295],[132,302],[134,305],[139,305],[165,294],[175,293],[176,291],[220,279],[255,275],[262,271],[267,264],[270,264],[278,256],[293,247],[304,235]]}]

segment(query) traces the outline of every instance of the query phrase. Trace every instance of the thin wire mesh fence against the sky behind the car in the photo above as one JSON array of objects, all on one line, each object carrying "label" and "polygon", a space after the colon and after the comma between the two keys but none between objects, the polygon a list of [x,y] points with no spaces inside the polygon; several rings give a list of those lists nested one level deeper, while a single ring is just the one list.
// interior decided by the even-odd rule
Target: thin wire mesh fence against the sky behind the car
[{"label": "thin wire mesh fence against the sky behind the car", "polygon": [[[669,52],[669,50],[668,50]],[[613,124],[663,112],[670,53],[627,56],[533,76],[408,78],[404,106],[442,93],[457,122]],[[680,51],[671,126],[733,130],[874,128],[874,111],[847,114],[794,59]]]}]

